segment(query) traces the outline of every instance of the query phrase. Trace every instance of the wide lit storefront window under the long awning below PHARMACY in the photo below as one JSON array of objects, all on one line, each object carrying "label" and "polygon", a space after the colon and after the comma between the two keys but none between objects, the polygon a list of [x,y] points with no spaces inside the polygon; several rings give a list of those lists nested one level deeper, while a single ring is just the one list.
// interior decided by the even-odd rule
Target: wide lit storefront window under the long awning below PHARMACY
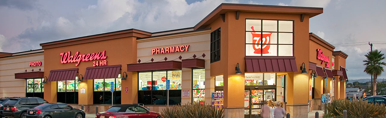
[{"label": "wide lit storefront window under the long awning below PHARMACY", "polygon": [[[166,80],[170,80],[169,98],[167,98]],[[138,103],[170,105],[181,103],[181,70],[139,72]]]}]

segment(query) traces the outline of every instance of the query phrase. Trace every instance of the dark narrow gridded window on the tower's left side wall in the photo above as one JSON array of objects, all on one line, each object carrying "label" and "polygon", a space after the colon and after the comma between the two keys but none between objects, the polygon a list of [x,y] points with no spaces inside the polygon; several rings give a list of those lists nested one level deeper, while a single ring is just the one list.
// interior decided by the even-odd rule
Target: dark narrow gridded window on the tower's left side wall
[{"label": "dark narrow gridded window on the tower's left side wall", "polygon": [[210,62],[220,61],[221,55],[221,28],[210,33]]}]

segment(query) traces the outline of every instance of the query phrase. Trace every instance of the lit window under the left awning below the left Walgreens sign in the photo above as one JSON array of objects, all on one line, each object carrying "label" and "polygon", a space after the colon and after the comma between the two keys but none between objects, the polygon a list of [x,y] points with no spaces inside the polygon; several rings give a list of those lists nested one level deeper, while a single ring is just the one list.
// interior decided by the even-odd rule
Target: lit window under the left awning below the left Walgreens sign
[{"label": "lit window under the left awning below the left Walgreens sign", "polygon": [[75,80],[57,81],[57,102],[77,104],[78,85],[78,76],[75,77]]}]

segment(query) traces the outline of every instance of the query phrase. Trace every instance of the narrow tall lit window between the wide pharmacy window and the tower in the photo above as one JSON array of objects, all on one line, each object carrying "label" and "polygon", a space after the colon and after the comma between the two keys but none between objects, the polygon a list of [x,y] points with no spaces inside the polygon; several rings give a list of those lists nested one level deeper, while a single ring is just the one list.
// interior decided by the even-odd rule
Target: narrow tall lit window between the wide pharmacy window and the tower
[{"label": "narrow tall lit window between the wide pharmacy window and the tower", "polygon": [[205,101],[205,69],[193,69],[193,102],[203,104]]}]

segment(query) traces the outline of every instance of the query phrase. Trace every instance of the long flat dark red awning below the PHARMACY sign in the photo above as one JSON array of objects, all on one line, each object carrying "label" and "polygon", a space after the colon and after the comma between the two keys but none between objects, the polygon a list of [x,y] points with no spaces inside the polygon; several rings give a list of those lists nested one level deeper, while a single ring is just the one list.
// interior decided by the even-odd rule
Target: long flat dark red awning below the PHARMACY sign
[{"label": "long flat dark red awning below the PHARMACY sign", "polygon": [[149,70],[168,70],[168,69],[181,69],[180,61],[163,61],[163,62],[151,62],[141,64],[127,64],[127,71],[149,71]]}]

